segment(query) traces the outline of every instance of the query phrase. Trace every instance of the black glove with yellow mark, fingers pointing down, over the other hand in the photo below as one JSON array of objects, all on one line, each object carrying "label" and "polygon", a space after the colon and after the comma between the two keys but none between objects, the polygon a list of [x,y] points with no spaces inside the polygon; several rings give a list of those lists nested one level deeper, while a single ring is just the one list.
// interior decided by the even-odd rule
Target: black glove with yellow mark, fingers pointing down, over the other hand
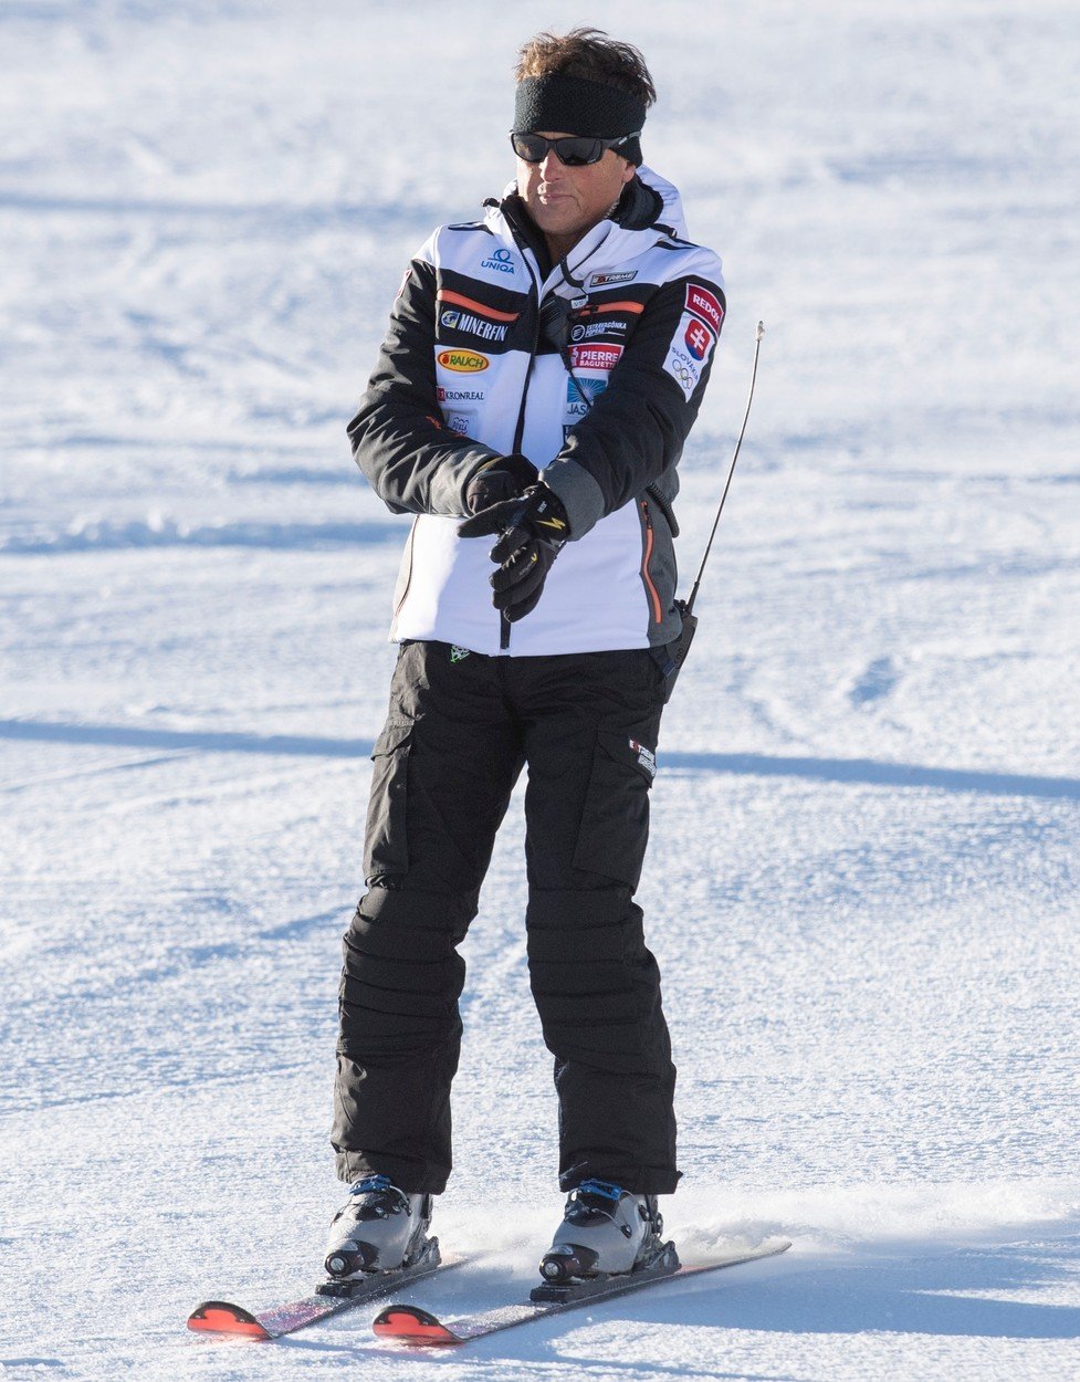
[{"label": "black glove with yellow mark, fingers pointing down, over the other hand", "polygon": [[500,532],[492,547],[499,569],[492,576],[492,604],[514,623],[530,614],[544,589],[551,564],[569,533],[562,500],[547,485],[533,485],[519,499],[492,504],[457,527],[461,538]]}]

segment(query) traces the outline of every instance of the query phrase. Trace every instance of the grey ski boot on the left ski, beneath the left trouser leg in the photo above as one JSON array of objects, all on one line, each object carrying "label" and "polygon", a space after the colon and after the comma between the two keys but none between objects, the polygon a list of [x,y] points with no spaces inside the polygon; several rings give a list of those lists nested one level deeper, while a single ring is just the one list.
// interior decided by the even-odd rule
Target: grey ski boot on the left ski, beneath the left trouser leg
[{"label": "grey ski boot on the left ski, beneath the left trouser leg", "polygon": [[356,1280],[373,1271],[412,1267],[434,1251],[428,1238],[431,1195],[409,1195],[389,1176],[365,1176],[349,1189],[344,1208],[334,1215],[326,1242],[326,1273],[337,1281]]}]

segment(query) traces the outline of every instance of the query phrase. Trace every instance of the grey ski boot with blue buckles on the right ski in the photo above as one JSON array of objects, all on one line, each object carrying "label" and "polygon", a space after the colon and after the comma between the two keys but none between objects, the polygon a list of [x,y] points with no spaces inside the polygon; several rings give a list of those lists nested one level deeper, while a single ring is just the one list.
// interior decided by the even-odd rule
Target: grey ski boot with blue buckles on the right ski
[{"label": "grey ski boot with blue buckles on the right ski", "polygon": [[639,1271],[656,1263],[664,1222],[656,1195],[635,1195],[608,1180],[586,1180],[572,1190],[555,1240],[540,1263],[548,1285]]}]

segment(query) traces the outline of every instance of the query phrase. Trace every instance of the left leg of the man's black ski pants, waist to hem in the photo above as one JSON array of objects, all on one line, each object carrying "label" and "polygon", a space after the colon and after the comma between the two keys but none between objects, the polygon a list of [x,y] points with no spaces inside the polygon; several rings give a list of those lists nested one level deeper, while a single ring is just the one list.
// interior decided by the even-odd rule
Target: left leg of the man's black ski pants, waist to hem
[{"label": "left leg of the man's black ski pants, waist to hem", "polygon": [[438,1194],[450,1172],[457,954],[522,766],[496,659],[406,644],[376,744],[367,893],[345,933],[331,1142],[343,1180]]}]

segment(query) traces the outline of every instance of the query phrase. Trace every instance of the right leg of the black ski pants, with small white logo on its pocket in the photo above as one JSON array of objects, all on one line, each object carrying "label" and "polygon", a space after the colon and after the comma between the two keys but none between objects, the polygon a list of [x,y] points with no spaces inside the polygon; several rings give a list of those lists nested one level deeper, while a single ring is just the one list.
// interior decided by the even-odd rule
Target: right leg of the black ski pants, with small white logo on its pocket
[{"label": "right leg of the black ski pants, with small white logo on its pocket", "polygon": [[[528,663],[529,666],[525,666]],[[555,1056],[559,1183],[670,1194],[675,1067],[633,901],[663,709],[648,650],[515,659],[526,720],[529,973]]]}]

